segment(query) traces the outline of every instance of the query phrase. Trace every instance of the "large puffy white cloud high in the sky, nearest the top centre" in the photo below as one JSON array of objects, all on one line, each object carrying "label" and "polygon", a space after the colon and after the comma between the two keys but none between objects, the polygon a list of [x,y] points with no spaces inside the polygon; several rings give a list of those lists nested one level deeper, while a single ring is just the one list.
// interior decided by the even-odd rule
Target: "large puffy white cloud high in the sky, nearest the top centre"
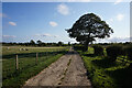
[{"label": "large puffy white cloud high in the sky, nearest the top centre", "polygon": [[58,4],[57,11],[58,11],[61,14],[63,14],[63,15],[69,14],[69,8],[68,8],[66,4],[64,4],[64,3]]}]

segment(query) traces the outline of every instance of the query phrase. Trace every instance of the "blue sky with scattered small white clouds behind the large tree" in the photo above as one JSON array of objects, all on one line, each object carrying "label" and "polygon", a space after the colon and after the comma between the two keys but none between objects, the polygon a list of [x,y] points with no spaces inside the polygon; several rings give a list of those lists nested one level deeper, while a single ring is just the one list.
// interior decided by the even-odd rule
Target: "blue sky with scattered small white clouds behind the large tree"
[{"label": "blue sky with scattered small white clouds behind the large tree", "polygon": [[97,42],[125,42],[130,36],[129,2],[3,2],[3,42],[76,42],[70,29],[85,13],[95,13],[114,31],[110,38]]}]

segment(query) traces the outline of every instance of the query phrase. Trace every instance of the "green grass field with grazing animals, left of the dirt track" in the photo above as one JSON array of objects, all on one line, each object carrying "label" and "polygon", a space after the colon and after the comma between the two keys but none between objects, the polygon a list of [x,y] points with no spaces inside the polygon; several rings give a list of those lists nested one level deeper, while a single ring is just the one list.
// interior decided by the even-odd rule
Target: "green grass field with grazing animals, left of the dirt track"
[{"label": "green grass field with grazing animals, left of the dirt track", "polygon": [[[2,46],[2,85],[3,88],[21,87],[25,80],[57,61],[69,47],[23,47]],[[36,62],[37,53],[37,62]],[[15,56],[19,69],[15,69]]]}]

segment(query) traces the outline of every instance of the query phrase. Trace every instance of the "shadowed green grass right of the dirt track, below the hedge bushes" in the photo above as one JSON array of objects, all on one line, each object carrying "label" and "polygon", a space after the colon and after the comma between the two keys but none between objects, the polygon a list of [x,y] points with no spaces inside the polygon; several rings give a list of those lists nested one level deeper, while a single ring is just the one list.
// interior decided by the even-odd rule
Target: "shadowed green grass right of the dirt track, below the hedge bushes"
[{"label": "shadowed green grass right of the dirt track, below the hedge bushes", "polygon": [[106,55],[94,55],[92,47],[86,53],[78,53],[84,59],[94,88],[132,88],[132,70],[129,67],[131,62],[125,56],[120,56],[112,63]]}]

